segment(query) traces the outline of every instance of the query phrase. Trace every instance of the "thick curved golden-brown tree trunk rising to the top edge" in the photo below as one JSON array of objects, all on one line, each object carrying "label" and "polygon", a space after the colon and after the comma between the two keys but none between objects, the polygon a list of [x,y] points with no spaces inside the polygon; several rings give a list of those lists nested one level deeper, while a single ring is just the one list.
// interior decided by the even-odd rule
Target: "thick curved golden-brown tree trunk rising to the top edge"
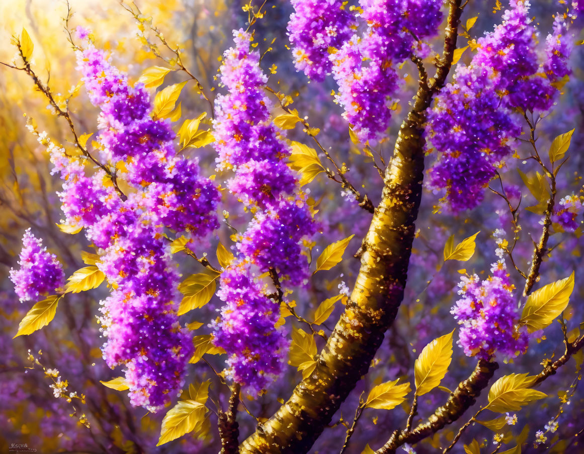
[{"label": "thick curved golden-brown tree trunk rising to the top edge", "polygon": [[319,355],[315,371],[300,382],[270,420],[259,424],[242,454],[306,453],[361,376],[394,321],[404,297],[424,170],[423,123],[432,97],[446,80],[456,49],[461,0],[449,0],[444,54],[430,81],[421,77],[412,110],[401,125],[385,171],[382,200],[364,239],[361,268],[350,301]]}]

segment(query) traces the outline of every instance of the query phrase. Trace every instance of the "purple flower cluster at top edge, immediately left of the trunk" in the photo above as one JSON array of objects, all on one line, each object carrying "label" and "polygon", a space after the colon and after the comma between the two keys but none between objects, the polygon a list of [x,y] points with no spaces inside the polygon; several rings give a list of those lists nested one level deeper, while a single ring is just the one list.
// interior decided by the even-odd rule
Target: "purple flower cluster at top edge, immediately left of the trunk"
[{"label": "purple flower cluster at top edge, immediately left of the trunk", "polygon": [[442,1],[361,0],[360,5],[366,30],[354,34],[330,58],[343,116],[360,141],[373,143],[391,119],[392,97],[400,82],[397,68],[412,54],[427,52],[419,40],[436,32]]}]

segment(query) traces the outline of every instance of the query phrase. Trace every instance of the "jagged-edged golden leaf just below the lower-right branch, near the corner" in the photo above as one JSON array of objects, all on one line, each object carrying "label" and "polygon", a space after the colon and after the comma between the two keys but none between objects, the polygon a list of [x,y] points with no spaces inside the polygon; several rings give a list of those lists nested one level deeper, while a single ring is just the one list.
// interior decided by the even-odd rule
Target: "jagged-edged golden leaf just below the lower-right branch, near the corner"
[{"label": "jagged-edged golden leaf just below the lower-right branch, near the corner", "polygon": [[489,404],[485,409],[496,413],[518,411],[532,400],[543,399],[547,394],[530,389],[535,377],[527,373],[512,373],[498,379],[489,390]]}]

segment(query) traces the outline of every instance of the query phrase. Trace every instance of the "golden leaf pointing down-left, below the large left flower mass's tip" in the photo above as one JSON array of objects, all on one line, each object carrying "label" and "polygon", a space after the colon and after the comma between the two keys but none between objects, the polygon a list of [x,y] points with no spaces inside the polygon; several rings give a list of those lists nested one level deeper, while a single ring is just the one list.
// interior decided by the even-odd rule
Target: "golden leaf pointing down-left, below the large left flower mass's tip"
[{"label": "golden leaf pointing down-left, below the large left flower mass's tip", "polygon": [[166,413],[157,446],[203,427],[207,407],[196,400],[181,400]]}]

